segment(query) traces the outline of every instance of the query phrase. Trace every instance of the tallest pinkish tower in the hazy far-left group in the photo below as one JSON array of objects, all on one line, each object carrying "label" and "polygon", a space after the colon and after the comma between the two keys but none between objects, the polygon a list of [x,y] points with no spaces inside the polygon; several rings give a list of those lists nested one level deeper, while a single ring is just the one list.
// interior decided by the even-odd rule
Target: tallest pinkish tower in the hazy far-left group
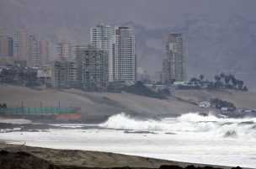
[{"label": "tallest pinkish tower in the hazy far-left group", "polygon": [[17,61],[27,61],[29,63],[29,33],[24,29],[19,29],[13,36],[13,56]]}]

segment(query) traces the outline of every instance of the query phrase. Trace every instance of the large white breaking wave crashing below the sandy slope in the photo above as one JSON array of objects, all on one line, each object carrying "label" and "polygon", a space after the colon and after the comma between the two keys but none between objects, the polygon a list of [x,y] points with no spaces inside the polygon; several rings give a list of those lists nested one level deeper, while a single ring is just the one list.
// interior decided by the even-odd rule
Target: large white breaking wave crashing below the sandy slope
[{"label": "large white breaking wave crashing below the sandy slope", "polygon": [[214,114],[200,115],[197,113],[182,114],[177,118],[133,119],[125,113],[115,114],[104,122],[100,127],[109,129],[133,129],[153,130],[165,132],[211,132],[214,135],[227,137],[229,131],[248,133],[256,132],[254,127],[255,118],[231,119],[216,117]]}]

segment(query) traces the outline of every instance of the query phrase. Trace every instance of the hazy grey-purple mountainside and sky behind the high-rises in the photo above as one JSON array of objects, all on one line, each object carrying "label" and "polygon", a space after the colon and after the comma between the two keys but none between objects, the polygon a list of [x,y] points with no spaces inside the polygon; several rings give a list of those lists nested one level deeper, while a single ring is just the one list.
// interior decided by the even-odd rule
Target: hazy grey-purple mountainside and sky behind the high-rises
[{"label": "hazy grey-purple mountainside and sky behind the high-rises", "polygon": [[0,29],[24,28],[49,40],[88,44],[95,24],[130,25],[136,35],[138,66],[154,74],[162,69],[168,33],[182,33],[188,80],[201,73],[232,72],[250,88],[256,84],[256,2],[153,0],[8,0],[0,2]]}]

